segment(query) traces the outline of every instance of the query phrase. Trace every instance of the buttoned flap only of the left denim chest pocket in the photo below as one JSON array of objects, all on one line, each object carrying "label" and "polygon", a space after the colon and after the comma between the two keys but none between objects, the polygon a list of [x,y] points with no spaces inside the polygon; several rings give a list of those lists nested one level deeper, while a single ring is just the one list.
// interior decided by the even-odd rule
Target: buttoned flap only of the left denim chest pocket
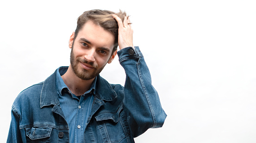
[{"label": "buttoned flap only of the left denim chest pocket", "polygon": [[31,140],[50,137],[52,127],[32,127],[26,128],[26,136]]}]

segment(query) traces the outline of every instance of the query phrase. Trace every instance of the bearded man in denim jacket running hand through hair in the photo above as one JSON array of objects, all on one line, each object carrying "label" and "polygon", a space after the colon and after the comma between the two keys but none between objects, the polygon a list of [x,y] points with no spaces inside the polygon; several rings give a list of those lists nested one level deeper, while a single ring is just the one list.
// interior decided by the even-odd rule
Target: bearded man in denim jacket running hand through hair
[{"label": "bearded man in denim jacket running hand through hair", "polygon": [[[7,143],[134,143],[161,127],[166,114],[132,34],[125,12],[84,12],[69,39],[69,67],[15,99]],[[117,53],[125,87],[99,75]]]}]

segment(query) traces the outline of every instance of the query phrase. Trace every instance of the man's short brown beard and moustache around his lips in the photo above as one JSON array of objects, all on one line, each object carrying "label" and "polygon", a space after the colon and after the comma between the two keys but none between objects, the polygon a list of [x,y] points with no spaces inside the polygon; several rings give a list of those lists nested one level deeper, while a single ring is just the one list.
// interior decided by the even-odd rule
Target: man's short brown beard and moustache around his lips
[{"label": "man's short brown beard and moustache around his lips", "polygon": [[[88,71],[87,69],[81,69],[81,71],[79,70],[79,64],[81,63],[87,63],[91,66],[94,67],[93,71]],[[71,69],[73,70],[73,72],[75,73],[75,75],[82,79],[82,80],[91,80],[94,79],[96,76],[98,76],[100,74],[100,72],[102,71],[102,69],[105,67],[102,66],[100,69],[98,69],[98,66],[95,65],[93,62],[88,62],[86,59],[82,59],[81,57],[77,57],[75,59],[75,55],[73,52],[73,46],[71,48],[71,53],[70,53],[70,64],[71,64]]]}]

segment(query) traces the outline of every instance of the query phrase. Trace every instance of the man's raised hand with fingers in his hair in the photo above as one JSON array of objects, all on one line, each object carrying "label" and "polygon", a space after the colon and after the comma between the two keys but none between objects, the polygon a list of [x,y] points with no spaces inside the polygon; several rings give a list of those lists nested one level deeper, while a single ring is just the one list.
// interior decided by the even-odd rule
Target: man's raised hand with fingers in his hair
[{"label": "man's raised hand with fingers in his hair", "polygon": [[113,15],[113,17],[116,19],[119,27],[118,28],[119,49],[121,50],[129,46],[133,47],[133,42],[132,42],[133,30],[131,28],[129,17],[128,18],[125,17],[124,23],[122,23],[122,20],[117,15]]}]

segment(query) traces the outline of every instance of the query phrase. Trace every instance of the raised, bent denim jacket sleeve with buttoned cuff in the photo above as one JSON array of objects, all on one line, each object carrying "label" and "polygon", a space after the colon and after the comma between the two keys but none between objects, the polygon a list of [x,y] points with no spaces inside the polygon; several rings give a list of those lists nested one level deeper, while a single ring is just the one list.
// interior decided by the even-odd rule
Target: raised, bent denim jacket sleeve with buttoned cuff
[{"label": "raised, bent denim jacket sleeve with buttoned cuff", "polygon": [[149,128],[162,127],[167,115],[151,84],[150,71],[139,47],[124,48],[118,55],[126,74],[124,109],[132,136],[137,137]]}]

